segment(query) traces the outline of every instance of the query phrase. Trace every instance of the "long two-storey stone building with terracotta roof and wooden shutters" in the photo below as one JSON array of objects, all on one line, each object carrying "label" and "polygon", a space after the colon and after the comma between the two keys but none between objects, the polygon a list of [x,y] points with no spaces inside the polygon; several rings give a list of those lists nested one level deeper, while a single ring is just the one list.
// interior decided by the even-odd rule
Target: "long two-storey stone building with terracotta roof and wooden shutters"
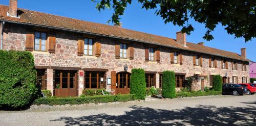
[{"label": "long two-storey stone building with terracotta roof and wooden shutters", "polygon": [[223,83],[249,82],[249,60],[241,55],[176,39],[132,31],[25,9],[0,5],[1,49],[30,51],[37,84],[55,96],[78,96],[83,89],[129,93],[132,68],[145,70],[146,86],[161,88],[162,72],[176,73],[177,90],[188,77],[193,90],[212,86],[212,76]]}]

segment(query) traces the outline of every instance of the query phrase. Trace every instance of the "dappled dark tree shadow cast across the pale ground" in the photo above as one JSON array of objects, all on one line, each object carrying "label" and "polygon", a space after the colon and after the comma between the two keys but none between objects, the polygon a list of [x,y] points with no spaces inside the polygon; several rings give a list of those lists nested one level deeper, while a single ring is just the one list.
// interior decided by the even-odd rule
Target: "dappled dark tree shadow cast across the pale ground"
[{"label": "dappled dark tree shadow cast across the pale ground", "polygon": [[202,106],[163,110],[132,106],[123,115],[59,117],[66,125],[256,125],[254,107]]}]

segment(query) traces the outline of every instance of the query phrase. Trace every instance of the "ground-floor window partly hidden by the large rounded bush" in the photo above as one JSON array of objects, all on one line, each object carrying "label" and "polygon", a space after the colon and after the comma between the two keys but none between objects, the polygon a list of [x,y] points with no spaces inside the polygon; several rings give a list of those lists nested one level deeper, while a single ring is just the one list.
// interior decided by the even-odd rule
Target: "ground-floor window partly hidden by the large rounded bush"
[{"label": "ground-floor window partly hidden by the large rounded bush", "polygon": [[46,69],[36,70],[36,86],[39,90],[46,90]]}]

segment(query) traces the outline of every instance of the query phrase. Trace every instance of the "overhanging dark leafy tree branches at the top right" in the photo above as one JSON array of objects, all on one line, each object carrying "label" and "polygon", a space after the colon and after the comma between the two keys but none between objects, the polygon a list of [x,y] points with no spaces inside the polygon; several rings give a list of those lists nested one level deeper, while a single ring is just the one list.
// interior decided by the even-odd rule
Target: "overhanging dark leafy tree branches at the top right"
[{"label": "overhanging dark leafy tree branches at the top right", "polygon": [[[156,15],[163,18],[165,23],[172,22],[175,26],[182,27],[182,33],[190,34],[194,28],[189,24],[189,20],[194,19],[199,23],[205,24],[207,29],[204,39],[212,40],[214,37],[210,32],[214,31],[217,24],[225,27],[228,34],[236,38],[243,37],[245,41],[251,40],[256,36],[256,16],[255,0],[137,0],[142,4],[142,8],[156,10]],[[113,8],[114,13],[111,19],[115,24],[119,24],[121,15],[127,4],[132,4],[132,0],[101,0],[97,2],[96,9],[104,10]]]}]

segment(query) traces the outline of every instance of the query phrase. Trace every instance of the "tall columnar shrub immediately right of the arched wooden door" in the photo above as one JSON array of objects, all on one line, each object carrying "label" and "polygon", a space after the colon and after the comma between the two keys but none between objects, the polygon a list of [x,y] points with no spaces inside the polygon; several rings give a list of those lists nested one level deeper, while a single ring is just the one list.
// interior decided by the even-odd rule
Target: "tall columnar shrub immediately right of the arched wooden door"
[{"label": "tall columnar shrub immediately right of the arched wooden door", "polygon": [[135,94],[138,99],[145,99],[146,82],[144,69],[132,69],[130,94]]}]

